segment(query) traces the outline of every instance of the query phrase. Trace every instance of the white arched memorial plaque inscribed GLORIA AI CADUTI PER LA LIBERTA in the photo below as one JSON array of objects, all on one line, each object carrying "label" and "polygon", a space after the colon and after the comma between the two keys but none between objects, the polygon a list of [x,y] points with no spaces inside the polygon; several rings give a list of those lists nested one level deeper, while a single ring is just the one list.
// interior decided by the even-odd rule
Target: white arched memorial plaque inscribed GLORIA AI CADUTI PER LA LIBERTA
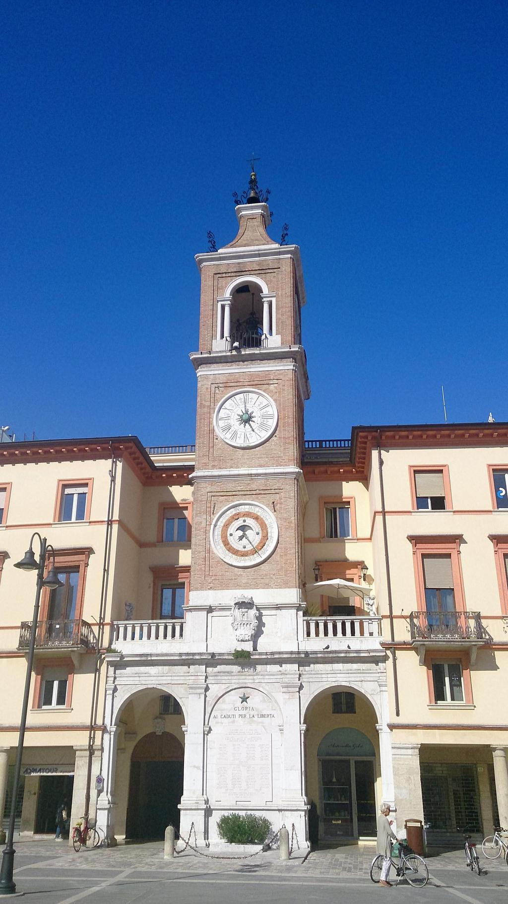
[{"label": "white arched memorial plaque inscribed GLORIA AI CADUTI PER LA LIBERTA", "polygon": [[260,691],[240,688],[221,697],[212,711],[208,736],[211,802],[260,806],[273,801],[278,720],[272,702]]}]

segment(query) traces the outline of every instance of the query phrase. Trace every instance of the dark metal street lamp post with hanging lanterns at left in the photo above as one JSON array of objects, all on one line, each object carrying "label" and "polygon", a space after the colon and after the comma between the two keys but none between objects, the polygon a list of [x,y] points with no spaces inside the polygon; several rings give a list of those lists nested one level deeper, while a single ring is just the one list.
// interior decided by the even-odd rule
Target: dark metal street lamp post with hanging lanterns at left
[{"label": "dark metal street lamp post with hanging lanterns at left", "polygon": [[[34,537],[39,538],[39,542],[41,544],[41,553],[39,556],[39,561],[35,559],[33,554],[33,539]],[[46,564],[46,555],[48,552],[52,552],[52,567],[48,571],[48,574],[44,578],[44,567]],[[48,544],[45,537],[42,537],[40,533],[33,533],[32,539],[30,541],[30,546],[28,550],[24,553],[24,557],[21,561],[16,562],[14,568],[19,568],[23,571],[37,571],[37,589],[35,591],[35,603],[33,606],[33,619],[32,619],[32,627],[30,630],[30,642],[28,645],[28,660],[26,663],[26,677],[24,679],[24,695],[23,695],[23,708],[21,711],[21,720],[19,726],[19,738],[18,738],[18,747],[16,752],[16,762],[14,766],[14,784],[13,784],[13,796],[11,800],[11,815],[9,817],[9,828],[7,832],[7,843],[5,844],[3,857],[2,857],[2,868],[0,870],[0,895],[14,895],[16,890],[16,885],[13,880],[13,872],[14,872],[14,822],[16,818],[16,803],[17,803],[17,794],[18,794],[18,786],[19,786],[19,777],[21,774],[21,761],[23,758],[23,744],[24,744],[24,729],[26,726],[26,713],[28,712],[28,699],[30,695],[30,682],[32,680],[32,666],[33,666],[33,653],[35,650],[35,638],[37,636],[37,619],[39,617],[39,604],[41,601],[41,590],[43,587],[47,587],[51,590],[56,589],[57,587],[62,587],[61,580],[59,579],[56,569],[55,569],[55,561],[54,561],[54,550],[52,546]]]}]

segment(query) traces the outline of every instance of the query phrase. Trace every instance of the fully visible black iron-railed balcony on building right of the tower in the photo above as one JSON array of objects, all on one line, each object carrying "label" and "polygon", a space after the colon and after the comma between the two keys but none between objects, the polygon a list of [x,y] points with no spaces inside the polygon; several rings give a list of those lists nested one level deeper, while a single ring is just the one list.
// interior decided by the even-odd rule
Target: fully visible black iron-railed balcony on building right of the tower
[{"label": "fully visible black iron-railed balcony on building right of the tower", "polygon": [[477,647],[491,642],[480,612],[411,612],[409,631],[420,661],[426,650],[446,647],[469,648],[474,663]]}]

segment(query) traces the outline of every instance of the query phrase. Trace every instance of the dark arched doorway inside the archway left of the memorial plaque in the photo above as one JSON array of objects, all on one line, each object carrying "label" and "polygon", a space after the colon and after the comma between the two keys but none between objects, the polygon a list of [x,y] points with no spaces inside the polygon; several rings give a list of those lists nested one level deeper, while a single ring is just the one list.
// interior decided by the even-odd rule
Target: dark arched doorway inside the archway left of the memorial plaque
[{"label": "dark arched doorway inside the archway left of the memorial plaque", "polygon": [[126,837],[161,839],[169,824],[180,825],[183,746],[163,731],[138,740],[130,761]]}]

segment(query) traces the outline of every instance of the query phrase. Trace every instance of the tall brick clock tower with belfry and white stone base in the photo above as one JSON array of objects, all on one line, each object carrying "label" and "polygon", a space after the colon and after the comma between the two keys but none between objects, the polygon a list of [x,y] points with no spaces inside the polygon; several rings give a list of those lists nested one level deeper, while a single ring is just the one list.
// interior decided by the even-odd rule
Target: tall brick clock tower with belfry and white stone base
[{"label": "tall brick clock tower with belfry and white stone base", "polygon": [[[309,396],[299,249],[269,238],[250,176],[239,231],[198,254],[191,651],[181,832],[221,812],[282,813],[304,833],[299,673],[301,460]],[[239,653],[235,651],[242,651]],[[250,654],[250,658],[249,658]],[[240,776],[243,775],[243,780]],[[209,828],[207,828],[209,826]]]}]

